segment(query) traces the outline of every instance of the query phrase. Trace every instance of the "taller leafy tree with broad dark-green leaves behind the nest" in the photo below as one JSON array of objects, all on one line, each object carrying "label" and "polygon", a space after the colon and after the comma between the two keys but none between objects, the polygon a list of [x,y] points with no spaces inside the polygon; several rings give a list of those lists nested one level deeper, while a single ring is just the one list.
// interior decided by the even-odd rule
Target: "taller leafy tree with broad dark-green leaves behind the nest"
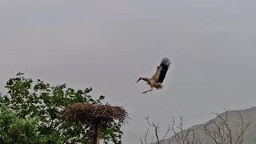
[{"label": "taller leafy tree with broad dark-green leaves behind the nest", "polygon": [[[80,122],[68,122],[64,118],[65,107],[76,102],[101,104],[104,96],[94,100],[86,90],[74,90],[66,88],[66,83],[58,86],[50,86],[49,83],[38,79],[25,78],[18,73],[17,77],[10,78],[6,82],[6,95],[0,98],[0,102],[13,110],[18,118],[38,118],[35,124],[38,134],[46,140],[46,143],[88,143],[91,141],[92,129],[90,125]],[[33,123],[32,123],[33,124]],[[113,122],[102,130],[102,140],[121,143],[121,123]],[[1,135],[0,135],[1,137]]]}]

